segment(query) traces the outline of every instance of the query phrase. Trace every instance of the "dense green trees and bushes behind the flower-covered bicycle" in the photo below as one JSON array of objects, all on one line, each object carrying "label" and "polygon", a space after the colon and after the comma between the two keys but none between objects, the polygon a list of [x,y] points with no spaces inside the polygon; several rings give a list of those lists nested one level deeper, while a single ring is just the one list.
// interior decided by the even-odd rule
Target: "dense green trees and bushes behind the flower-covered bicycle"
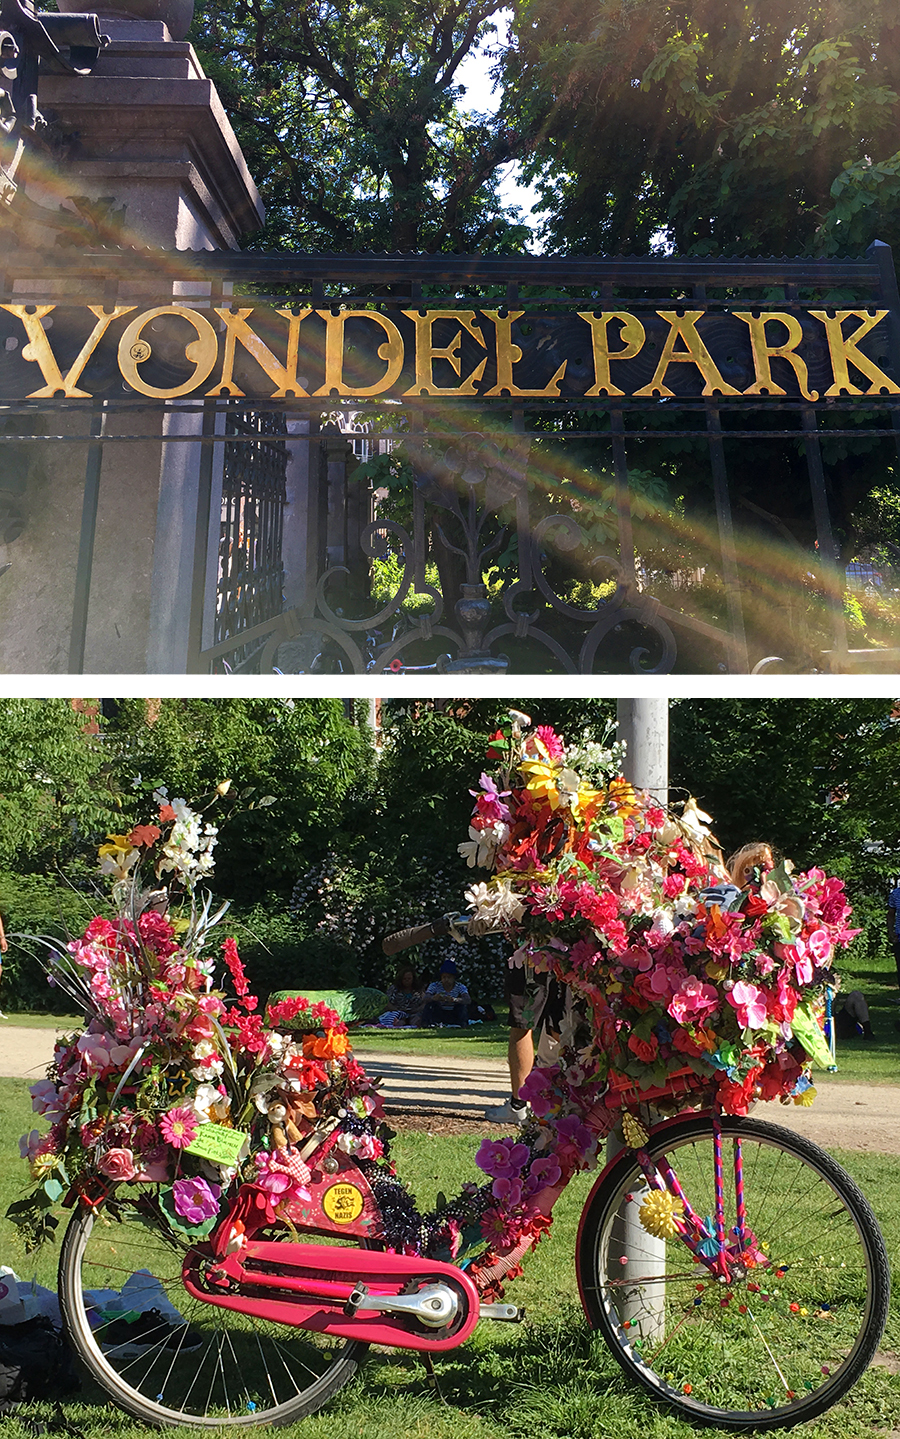
[{"label": "dense green trees and bushes behind the flower-covered bicycle", "polygon": [[[230,780],[209,812],[220,825],[215,889],[232,901],[229,925],[253,983],[265,991],[383,983],[392,963],[382,937],[461,908],[467,886],[484,878],[456,846],[490,735],[510,707],[569,743],[585,731],[600,738],[615,715],[611,699],[583,696],[395,699],[376,761],[361,707],[347,714],[337,699],[166,699],[151,709],[120,701],[99,738],[66,701],[6,701],[7,928],[78,932],[102,908],[95,872],[105,835],[145,819],[158,784],[209,799]],[[799,868],[841,875],[865,930],[855,953],[890,967],[884,904],[900,869],[900,722],[890,702],[674,701],[670,730],[672,797],[693,793],[727,850],[768,839]],[[431,973],[446,951],[477,990],[497,991],[501,940],[465,951],[433,941],[416,963]],[[4,993],[10,1009],[53,1007],[36,963],[14,948]]]}]

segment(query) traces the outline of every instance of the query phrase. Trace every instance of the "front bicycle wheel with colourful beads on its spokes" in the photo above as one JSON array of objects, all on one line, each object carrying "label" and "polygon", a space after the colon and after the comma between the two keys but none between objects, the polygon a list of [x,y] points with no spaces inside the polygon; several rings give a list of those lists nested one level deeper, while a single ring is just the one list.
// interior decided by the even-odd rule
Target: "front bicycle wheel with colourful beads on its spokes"
[{"label": "front bicycle wheel with colourful beads on its spokes", "polygon": [[[726,1235],[736,1217],[727,1156],[740,1138],[759,1266],[720,1288],[677,1238],[642,1253],[635,1227],[647,1235],[626,1206],[639,1207],[645,1179],[626,1151],[585,1206],[576,1248],[582,1302],[625,1373],[685,1417],[733,1430],[788,1427],[835,1404],[876,1354],[890,1298],[884,1240],[868,1202],[825,1150],[753,1118],[723,1117],[721,1131]],[[671,1158],[703,1219],[714,1213],[708,1115],[658,1127],[647,1150],[654,1164]]]}]

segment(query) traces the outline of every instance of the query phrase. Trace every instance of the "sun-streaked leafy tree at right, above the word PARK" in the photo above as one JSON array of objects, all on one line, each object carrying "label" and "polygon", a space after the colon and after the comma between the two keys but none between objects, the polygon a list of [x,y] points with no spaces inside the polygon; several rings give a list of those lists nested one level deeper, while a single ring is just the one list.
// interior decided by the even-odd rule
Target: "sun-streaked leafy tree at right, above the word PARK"
[{"label": "sun-streaked leafy tree at right, above the word PARK", "polygon": [[521,0],[507,111],[552,249],[858,255],[900,240],[890,0]]}]

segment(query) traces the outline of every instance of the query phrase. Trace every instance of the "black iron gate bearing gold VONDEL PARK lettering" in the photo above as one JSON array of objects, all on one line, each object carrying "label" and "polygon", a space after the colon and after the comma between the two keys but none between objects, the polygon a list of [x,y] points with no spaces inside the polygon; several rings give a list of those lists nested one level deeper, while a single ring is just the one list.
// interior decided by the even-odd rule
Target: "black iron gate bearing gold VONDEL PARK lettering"
[{"label": "black iron gate bearing gold VONDEL PARK lettering", "polygon": [[[173,279],[179,294],[200,282],[206,298],[173,299]],[[171,416],[180,429],[166,443],[203,455],[189,669],[747,672],[773,653],[795,669],[897,668],[887,645],[848,650],[834,519],[848,453],[864,448],[891,482],[897,465],[887,246],[860,260],[13,255],[4,283],[30,353],[6,368],[0,354],[0,440],[10,455],[86,452],[71,669],[99,456]],[[43,341],[24,309],[49,298],[58,368],[42,368],[59,383],[37,399],[22,360],[40,358]],[[98,317],[89,341],[75,321],[66,340],[66,307]],[[360,371],[341,389],[333,331],[351,368],[364,348],[353,327],[372,319],[379,383],[393,366],[396,384],[379,391]],[[768,331],[773,321],[782,330]],[[252,389],[261,373],[268,399]],[[350,462],[338,484],[340,446],[323,435],[336,414],[373,436],[382,471]],[[292,453],[308,450],[308,482],[305,597],[284,606],[288,430]],[[670,502],[654,509],[662,482]],[[336,554],[338,499],[359,524]]]}]

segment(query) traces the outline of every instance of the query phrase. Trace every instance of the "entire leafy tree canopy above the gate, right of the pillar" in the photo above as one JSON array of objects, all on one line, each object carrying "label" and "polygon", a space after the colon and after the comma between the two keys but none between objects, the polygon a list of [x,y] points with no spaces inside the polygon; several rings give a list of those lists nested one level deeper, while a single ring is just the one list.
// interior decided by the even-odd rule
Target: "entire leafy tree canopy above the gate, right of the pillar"
[{"label": "entire leafy tree canopy above the gate, right of the pillar", "polygon": [[[900,242],[891,0],[202,0],[192,39],[264,191],[258,246],[521,249],[508,160],[560,253]],[[459,82],[480,46],[495,115]]]}]

